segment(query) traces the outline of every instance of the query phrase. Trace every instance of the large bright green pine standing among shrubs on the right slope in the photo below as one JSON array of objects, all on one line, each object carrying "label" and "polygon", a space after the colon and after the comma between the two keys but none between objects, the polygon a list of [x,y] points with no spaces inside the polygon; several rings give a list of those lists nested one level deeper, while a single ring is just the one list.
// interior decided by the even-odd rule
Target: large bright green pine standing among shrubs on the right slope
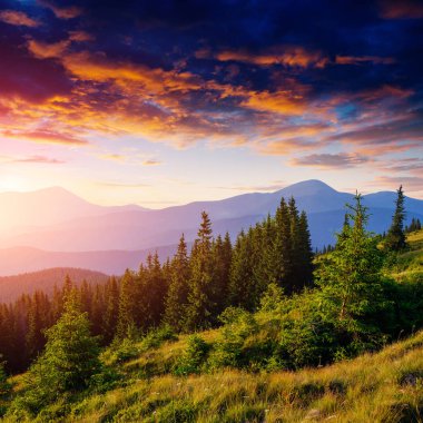
[{"label": "large bright green pine standing among shrubs on the right slope", "polygon": [[366,230],[367,208],[362,196],[355,205],[347,205],[353,225],[344,227],[337,236],[335,250],[317,269],[317,285],[322,289],[325,315],[332,316],[336,326],[358,336],[371,333],[364,316],[381,306],[382,253],[377,238]]}]

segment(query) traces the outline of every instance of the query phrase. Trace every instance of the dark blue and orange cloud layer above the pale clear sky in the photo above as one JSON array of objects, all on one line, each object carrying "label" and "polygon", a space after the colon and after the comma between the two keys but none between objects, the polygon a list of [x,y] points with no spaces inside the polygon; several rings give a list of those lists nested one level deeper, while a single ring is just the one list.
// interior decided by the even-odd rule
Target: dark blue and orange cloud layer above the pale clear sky
[{"label": "dark blue and orange cloud layer above the pale clear sky", "polygon": [[422,20],[412,0],[0,1],[0,137],[384,171],[422,155]]}]

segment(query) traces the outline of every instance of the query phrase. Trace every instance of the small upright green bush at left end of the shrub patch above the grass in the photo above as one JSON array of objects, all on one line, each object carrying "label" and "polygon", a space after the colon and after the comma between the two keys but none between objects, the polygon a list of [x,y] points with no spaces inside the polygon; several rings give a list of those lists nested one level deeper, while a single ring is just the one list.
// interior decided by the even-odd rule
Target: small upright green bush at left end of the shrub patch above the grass
[{"label": "small upright green bush at left end of the shrub patch above the grass", "polygon": [[199,373],[207,360],[209,345],[198,335],[188,337],[187,348],[175,366],[176,375],[188,375]]}]

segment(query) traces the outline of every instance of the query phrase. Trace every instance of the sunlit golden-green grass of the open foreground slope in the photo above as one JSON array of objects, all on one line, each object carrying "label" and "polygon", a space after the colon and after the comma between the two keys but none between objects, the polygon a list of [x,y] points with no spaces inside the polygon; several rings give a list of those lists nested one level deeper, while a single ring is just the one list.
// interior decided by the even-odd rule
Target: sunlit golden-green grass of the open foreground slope
[{"label": "sunlit golden-green grass of the open foreground slope", "polygon": [[[422,273],[423,232],[395,264]],[[203,332],[208,343],[219,331]],[[171,374],[187,336],[119,365],[124,386],[72,406],[71,422],[423,422],[423,332],[348,362],[298,372]],[[20,377],[16,378],[19,387]]]}]

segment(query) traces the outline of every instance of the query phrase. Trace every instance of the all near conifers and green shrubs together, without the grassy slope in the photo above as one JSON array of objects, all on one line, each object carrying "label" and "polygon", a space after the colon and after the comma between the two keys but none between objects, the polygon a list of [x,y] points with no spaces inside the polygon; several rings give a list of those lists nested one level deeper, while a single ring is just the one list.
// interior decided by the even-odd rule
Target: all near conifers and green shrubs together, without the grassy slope
[{"label": "all near conifers and green shrubs together, without the grassy slope", "polygon": [[[225,367],[322,366],[412,334],[423,327],[421,273],[400,284],[386,272],[409,248],[404,216],[400,187],[392,225],[375,236],[356,195],[335,247],[315,257],[307,217],[294,198],[283,198],[275,216],[242,232],[234,245],[228,235],[213,237],[203,213],[190,253],[183,235],[166,263],[150,255],[138,272],[106,284],[77,286],[68,277],[50,296],[37,292],[2,304],[4,395],[4,370],[30,366],[27,388],[9,413],[35,416],[81,390],[107,391],[119,380],[107,363],[130,358],[140,341],[148,348],[219,327],[213,346],[198,334],[189,337],[168,370],[186,376]],[[99,360],[101,348],[106,361]]]}]

